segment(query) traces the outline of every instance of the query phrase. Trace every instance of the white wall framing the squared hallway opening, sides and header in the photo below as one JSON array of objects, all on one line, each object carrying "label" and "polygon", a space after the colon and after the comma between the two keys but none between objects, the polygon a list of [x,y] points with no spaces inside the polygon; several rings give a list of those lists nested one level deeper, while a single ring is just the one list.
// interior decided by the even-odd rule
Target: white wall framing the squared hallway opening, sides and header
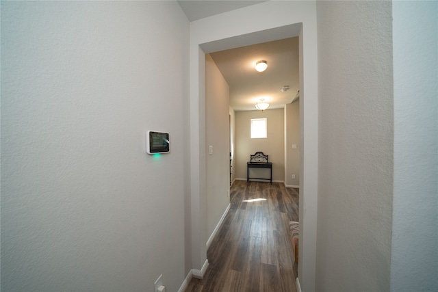
[{"label": "white wall framing the squared hallway opening, sides and header", "polygon": [[[266,13],[269,12],[269,13]],[[254,21],[257,19],[257,21]],[[301,287],[315,284],[318,190],[318,75],[314,1],[267,1],[190,23],[190,167],[192,263],[206,260],[205,53],[300,36],[300,263]],[[303,65],[304,63],[304,65]],[[305,66],[305,68],[303,68]]]}]

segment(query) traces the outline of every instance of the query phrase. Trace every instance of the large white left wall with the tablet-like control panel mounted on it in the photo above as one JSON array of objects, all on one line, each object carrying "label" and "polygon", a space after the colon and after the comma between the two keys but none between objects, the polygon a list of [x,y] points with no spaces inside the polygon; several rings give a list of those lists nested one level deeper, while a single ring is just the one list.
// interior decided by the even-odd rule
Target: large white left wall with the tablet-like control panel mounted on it
[{"label": "large white left wall with the tablet-like control panel mounted on it", "polygon": [[188,40],[176,2],[1,3],[2,290],[179,289]]}]

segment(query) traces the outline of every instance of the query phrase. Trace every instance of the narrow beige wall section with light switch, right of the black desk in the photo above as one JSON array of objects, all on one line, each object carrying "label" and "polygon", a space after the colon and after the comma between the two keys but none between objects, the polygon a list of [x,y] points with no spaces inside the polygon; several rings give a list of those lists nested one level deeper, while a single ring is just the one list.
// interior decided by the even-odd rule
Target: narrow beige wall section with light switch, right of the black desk
[{"label": "narrow beige wall section with light switch, right of the black desk", "polygon": [[[285,185],[300,185],[300,102],[285,106]],[[295,144],[296,148],[292,148]],[[295,175],[295,178],[292,178]]]}]

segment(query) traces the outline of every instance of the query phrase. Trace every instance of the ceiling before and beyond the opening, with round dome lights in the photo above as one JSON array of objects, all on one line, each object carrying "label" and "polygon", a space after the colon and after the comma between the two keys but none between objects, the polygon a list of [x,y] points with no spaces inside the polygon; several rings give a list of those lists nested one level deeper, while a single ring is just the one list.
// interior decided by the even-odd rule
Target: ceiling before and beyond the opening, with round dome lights
[{"label": "ceiling before and beyond the opening, with round dome lights", "polygon": [[[254,5],[264,1],[179,1],[190,21]],[[230,88],[230,106],[235,111],[255,110],[260,98],[270,109],[283,108],[299,90],[298,37],[274,40],[210,53]],[[259,60],[268,68],[257,72]],[[289,89],[282,92],[283,86]]]}]

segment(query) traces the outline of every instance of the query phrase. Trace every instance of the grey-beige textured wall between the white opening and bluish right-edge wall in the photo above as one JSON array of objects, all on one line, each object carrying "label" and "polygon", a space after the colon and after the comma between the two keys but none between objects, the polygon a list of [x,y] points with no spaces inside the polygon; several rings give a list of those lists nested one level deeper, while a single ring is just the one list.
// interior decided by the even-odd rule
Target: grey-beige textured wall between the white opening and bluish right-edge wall
[{"label": "grey-beige textured wall between the white opening and bluish right-edge wall", "polygon": [[389,1],[320,1],[316,291],[388,291],[393,179]]}]

